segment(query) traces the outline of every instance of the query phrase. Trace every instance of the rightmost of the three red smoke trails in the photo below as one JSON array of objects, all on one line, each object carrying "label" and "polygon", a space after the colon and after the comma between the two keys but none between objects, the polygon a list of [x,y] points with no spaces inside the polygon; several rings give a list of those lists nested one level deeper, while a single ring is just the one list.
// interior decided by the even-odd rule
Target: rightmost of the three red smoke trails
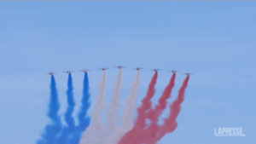
[{"label": "rightmost of the three red smoke trails", "polygon": [[187,76],[184,79],[182,87],[178,90],[177,99],[173,101],[172,104],[170,105],[171,111],[168,118],[164,119],[164,124],[158,126],[157,128],[158,134],[156,135],[156,137],[154,137],[153,140],[151,140],[148,143],[156,143],[157,141],[160,141],[160,139],[164,135],[166,135],[166,133],[171,133],[177,128],[176,118],[178,113],[181,110],[181,104],[184,101],[185,89],[188,86],[188,82],[189,82],[189,76]]}]

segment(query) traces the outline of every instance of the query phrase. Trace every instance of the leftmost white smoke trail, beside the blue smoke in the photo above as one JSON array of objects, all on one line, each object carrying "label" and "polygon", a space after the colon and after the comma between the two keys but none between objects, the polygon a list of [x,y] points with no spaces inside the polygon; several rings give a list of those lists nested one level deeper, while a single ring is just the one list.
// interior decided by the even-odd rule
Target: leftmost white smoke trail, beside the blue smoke
[{"label": "leftmost white smoke trail, beside the blue smoke", "polygon": [[94,107],[91,113],[91,124],[84,131],[82,138],[80,140],[80,144],[90,144],[96,141],[97,137],[95,136],[96,131],[101,131],[103,127],[103,120],[102,120],[102,112],[104,110],[105,102],[105,89],[106,89],[106,72],[103,71],[102,73],[102,80],[99,86],[99,92],[96,98],[96,106]]}]

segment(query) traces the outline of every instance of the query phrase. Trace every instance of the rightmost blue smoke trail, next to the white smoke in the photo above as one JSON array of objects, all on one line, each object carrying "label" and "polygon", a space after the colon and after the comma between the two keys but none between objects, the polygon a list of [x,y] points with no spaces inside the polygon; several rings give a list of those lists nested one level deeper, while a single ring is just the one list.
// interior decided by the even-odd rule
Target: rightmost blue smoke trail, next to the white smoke
[{"label": "rightmost blue smoke trail, next to the white smoke", "polygon": [[81,101],[82,106],[80,107],[78,119],[79,125],[75,127],[72,137],[68,141],[68,144],[79,144],[81,133],[86,130],[90,124],[90,118],[86,117],[87,111],[90,108],[90,92],[89,92],[89,78],[87,72],[84,73],[84,88],[83,98]]}]

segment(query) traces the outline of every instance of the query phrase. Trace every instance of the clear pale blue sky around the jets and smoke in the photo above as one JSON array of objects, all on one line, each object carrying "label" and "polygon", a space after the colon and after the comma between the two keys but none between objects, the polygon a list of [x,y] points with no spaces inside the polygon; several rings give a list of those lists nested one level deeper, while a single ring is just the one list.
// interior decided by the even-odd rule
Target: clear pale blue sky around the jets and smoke
[{"label": "clear pale blue sky around the jets and smoke", "polygon": [[[142,100],[154,67],[154,103],[172,73],[192,72],[177,130],[162,144],[253,144],[255,114],[255,2],[1,2],[0,144],[32,144],[48,124],[49,75],[66,109],[66,70],[89,73],[92,105],[102,76],[123,70],[122,102],[136,66]],[[107,106],[118,70],[107,72]],[[76,110],[84,74],[73,73]],[[173,101],[185,75],[177,73]],[[93,105],[94,106],[94,105]],[[163,114],[166,117],[168,110]],[[75,115],[75,114],[74,114]],[[245,137],[216,137],[214,128],[243,128]]]}]

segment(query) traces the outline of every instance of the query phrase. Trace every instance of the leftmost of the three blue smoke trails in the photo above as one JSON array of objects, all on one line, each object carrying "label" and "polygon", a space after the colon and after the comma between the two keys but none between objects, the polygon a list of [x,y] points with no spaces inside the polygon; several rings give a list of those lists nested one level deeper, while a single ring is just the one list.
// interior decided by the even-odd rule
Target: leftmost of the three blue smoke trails
[{"label": "leftmost of the three blue smoke trails", "polygon": [[49,100],[49,112],[48,117],[51,121],[50,124],[44,128],[44,133],[41,135],[42,139],[37,141],[38,144],[53,144],[55,143],[56,135],[61,130],[61,119],[58,116],[60,104],[58,100],[58,93],[55,84],[54,76],[50,79],[50,100]]}]

